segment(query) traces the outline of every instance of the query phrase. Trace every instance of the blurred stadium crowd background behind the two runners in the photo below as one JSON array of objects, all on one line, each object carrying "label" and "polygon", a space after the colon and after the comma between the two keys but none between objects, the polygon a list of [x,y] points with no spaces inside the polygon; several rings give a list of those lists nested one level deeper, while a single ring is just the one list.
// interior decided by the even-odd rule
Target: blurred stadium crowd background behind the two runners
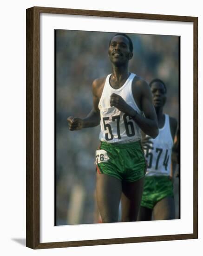
[{"label": "blurred stadium crowd background behind the two runners", "polygon": [[[116,33],[116,32],[115,32]],[[111,73],[109,41],[115,33],[56,30],[56,225],[97,223],[94,165],[99,126],[69,131],[67,117],[92,108],[92,81]],[[178,116],[179,38],[128,34],[134,46],[129,70],[167,87],[164,112]],[[176,170],[177,171],[177,170]],[[178,177],[174,181],[179,216]]]}]

